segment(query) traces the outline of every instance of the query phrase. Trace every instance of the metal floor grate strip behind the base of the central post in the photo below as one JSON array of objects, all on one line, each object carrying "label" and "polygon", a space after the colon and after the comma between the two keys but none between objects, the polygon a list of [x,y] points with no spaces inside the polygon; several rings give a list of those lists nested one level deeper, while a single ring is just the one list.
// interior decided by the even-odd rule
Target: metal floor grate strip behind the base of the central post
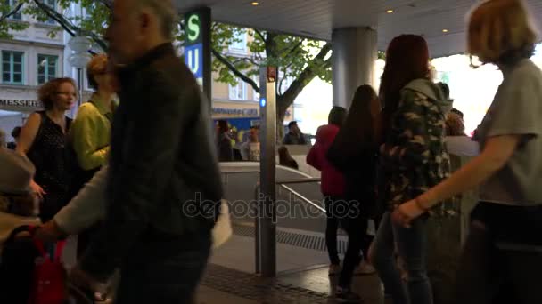
[{"label": "metal floor grate strip behind the base of the central post", "polygon": [[[254,237],[255,229],[254,227],[246,225],[234,225],[234,235]],[[325,247],[324,234],[315,233],[312,231],[308,231],[307,234],[303,234],[302,232],[292,232],[284,228],[276,228],[276,242],[320,252],[327,251]],[[337,236],[337,250],[339,254],[344,254],[346,252],[348,244],[349,242],[347,237]]]}]

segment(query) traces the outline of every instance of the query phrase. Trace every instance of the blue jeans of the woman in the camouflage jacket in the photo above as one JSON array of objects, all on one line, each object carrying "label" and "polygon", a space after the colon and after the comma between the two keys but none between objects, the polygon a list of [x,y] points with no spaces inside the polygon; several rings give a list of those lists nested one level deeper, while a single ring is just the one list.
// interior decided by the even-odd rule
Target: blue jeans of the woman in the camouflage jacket
[{"label": "blue jeans of the woman in the camouflage jacket", "polygon": [[[426,219],[412,222],[411,228],[398,227],[391,222],[390,212],[384,213],[374,239],[374,268],[381,277],[393,304],[432,304],[432,291],[427,276]],[[408,273],[403,284],[394,259],[395,244]]]}]

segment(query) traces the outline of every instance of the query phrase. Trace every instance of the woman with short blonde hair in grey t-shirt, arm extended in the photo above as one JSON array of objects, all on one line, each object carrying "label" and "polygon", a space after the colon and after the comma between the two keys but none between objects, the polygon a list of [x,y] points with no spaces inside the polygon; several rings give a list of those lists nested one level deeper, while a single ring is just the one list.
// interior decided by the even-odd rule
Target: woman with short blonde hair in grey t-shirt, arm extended
[{"label": "woman with short blonde hair in grey t-shirt, arm extended", "polygon": [[530,60],[536,42],[520,0],[486,1],[472,12],[468,52],[504,76],[476,132],[481,154],[393,213],[408,227],[439,202],[480,187],[456,303],[542,303],[542,72]]}]

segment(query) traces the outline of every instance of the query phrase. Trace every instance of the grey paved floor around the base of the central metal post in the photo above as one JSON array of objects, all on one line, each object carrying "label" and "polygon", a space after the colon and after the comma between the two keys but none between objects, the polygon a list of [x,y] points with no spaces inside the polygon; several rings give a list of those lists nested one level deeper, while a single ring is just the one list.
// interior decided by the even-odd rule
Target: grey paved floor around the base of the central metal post
[{"label": "grey paved floor around the base of the central metal post", "polygon": [[[336,303],[338,276],[327,275],[327,253],[316,236],[281,229],[279,235],[286,235],[283,240],[277,237],[277,276],[263,278],[255,274],[254,237],[239,227],[234,231],[209,260],[197,291],[198,304]],[[354,276],[353,289],[362,297],[360,303],[389,304],[375,275]]]}]

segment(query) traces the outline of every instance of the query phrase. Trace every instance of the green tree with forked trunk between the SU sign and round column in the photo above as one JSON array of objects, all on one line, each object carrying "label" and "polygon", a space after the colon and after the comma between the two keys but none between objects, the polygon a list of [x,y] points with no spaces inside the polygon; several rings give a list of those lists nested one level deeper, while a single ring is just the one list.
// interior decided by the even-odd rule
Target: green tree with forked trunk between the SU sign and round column
[{"label": "green tree with forked trunk between the SU sign and round column", "polygon": [[[316,77],[331,82],[331,44],[299,36],[288,36],[226,24],[212,25],[213,70],[219,82],[236,84],[243,81],[259,92],[259,68],[279,69],[276,82],[276,115],[282,135],[286,110],[301,91]],[[242,42],[248,35],[248,54],[229,52],[228,45]]]}]

